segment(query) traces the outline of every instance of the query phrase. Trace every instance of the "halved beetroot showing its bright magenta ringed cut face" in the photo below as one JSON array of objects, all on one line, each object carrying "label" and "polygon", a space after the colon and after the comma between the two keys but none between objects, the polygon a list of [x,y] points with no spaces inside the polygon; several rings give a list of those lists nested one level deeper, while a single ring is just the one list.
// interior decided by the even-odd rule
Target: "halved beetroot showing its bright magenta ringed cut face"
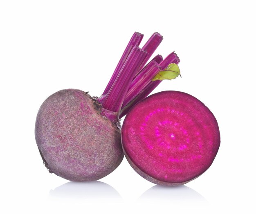
[{"label": "halved beetroot showing its bright magenta ringed cut face", "polygon": [[220,146],[218,123],[195,97],[163,91],[124,119],[122,146],[132,168],[159,185],[182,185],[205,172]]}]

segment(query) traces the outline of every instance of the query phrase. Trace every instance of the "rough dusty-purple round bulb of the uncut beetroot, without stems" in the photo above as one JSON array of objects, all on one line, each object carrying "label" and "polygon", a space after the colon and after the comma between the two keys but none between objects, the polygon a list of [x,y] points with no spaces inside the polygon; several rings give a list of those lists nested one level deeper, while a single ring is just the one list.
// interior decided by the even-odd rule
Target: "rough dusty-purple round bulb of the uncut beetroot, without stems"
[{"label": "rough dusty-purple round bulb of the uncut beetroot, without stems", "polygon": [[121,163],[121,131],[101,115],[88,93],[60,90],[48,97],[36,117],[35,137],[49,172],[70,181],[94,181]]}]

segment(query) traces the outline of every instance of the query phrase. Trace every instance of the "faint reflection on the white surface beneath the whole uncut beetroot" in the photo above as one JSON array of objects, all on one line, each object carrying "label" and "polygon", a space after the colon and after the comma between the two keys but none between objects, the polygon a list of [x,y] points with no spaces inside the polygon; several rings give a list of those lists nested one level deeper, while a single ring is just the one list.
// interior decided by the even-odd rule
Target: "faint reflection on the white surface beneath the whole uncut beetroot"
[{"label": "faint reflection on the white surface beneath the whole uncut beetroot", "polygon": [[67,182],[49,192],[51,197],[61,199],[121,199],[120,194],[112,186],[101,181]]}]

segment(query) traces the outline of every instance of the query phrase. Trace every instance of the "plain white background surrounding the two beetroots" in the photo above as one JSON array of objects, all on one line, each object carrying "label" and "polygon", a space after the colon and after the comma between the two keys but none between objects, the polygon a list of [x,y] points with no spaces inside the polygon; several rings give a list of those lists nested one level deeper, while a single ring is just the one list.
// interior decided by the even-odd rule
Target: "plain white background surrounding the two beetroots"
[{"label": "plain white background surrounding the two beetroots", "polygon": [[[1,213],[255,213],[254,1],[0,1]],[[221,145],[209,170],[163,188],[126,159],[97,182],[49,174],[34,139],[42,102],[77,88],[99,96],[131,35],[164,36],[156,54],[175,50],[180,90],[218,120]]]}]

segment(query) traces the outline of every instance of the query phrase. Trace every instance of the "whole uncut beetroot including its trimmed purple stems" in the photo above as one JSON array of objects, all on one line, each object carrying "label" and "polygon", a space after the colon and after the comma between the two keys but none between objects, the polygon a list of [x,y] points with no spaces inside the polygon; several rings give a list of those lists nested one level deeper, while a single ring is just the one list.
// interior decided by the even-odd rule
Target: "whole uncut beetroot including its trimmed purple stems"
[{"label": "whole uncut beetroot including its trimmed purple stems", "polygon": [[139,48],[142,38],[141,33],[132,35],[101,97],[66,89],[44,101],[36,117],[35,137],[49,172],[71,181],[93,181],[121,163],[119,119],[159,84],[151,84],[159,71],[180,62],[171,53],[164,60],[157,55],[146,65],[163,38],[154,33]]}]

